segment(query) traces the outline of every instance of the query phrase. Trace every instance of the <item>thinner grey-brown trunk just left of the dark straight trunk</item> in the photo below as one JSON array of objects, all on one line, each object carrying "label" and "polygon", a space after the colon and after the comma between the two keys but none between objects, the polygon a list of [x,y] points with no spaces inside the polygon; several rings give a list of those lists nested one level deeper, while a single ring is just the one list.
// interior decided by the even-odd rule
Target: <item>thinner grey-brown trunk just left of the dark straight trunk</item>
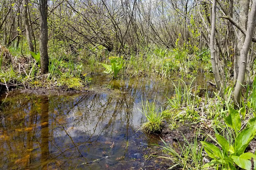
[{"label": "thinner grey-brown trunk just left of the dark straight trunk", "polygon": [[27,0],[23,0],[23,7],[24,7],[24,17],[25,17],[24,23],[25,23],[25,28],[26,28],[28,49],[29,49],[29,51],[35,52],[34,51],[34,45],[32,43],[31,29],[30,29],[29,22],[28,22],[28,3],[27,3]]}]

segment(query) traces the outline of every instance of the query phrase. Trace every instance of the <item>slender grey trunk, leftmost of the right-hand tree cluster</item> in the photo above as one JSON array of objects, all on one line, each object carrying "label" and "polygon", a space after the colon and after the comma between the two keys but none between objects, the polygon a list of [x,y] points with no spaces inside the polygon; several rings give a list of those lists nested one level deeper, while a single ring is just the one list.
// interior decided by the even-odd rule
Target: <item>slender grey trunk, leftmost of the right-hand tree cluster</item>
[{"label": "slender grey trunk, leftmost of the right-hand tree cluster", "polygon": [[223,84],[221,82],[220,71],[218,67],[218,57],[216,54],[217,44],[215,40],[215,28],[216,28],[216,0],[213,0],[212,14],[211,14],[211,35],[210,35],[210,51],[211,51],[211,66],[213,68],[214,79],[217,85],[217,89],[220,91],[224,100],[227,97],[223,94]]}]

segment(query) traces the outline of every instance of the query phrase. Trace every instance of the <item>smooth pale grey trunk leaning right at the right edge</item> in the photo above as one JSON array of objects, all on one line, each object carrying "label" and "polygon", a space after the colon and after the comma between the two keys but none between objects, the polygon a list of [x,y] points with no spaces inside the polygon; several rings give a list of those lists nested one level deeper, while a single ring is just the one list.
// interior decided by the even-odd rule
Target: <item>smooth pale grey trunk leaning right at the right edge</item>
[{"label": "smooth pale grey trunk leaning right at the right edge", "polygon": [[238,108],[241,105],[240,103],[241,91],[242,91],[242,87],[245,80],[247,57],[248,57],[248,52],[251,45],[251,40],[254,35],[255,23],[256,23],[256,1],[254,0],[251,5],[251,12],[248,18],[247,32],[246,32],[244,44],[241,50],[241,56],[239,61],[239,71],[238,71],[237,83],[235,86],[235,94],[234,94],[235,108]]}]

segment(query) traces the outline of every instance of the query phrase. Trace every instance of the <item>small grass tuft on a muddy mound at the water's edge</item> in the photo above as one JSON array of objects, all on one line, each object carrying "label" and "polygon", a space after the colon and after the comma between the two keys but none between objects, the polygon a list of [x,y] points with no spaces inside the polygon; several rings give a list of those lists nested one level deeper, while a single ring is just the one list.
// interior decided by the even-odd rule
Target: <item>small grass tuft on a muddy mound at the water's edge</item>
[{"label": "small grass tuft on a muddy mound at the water's edge", "polygon": [[156,111],[155,103],[149,103],[146,102],[146,106],[142,103],[142,109],[141,111],[147,118],[147,122],[142,125],[142,130],[146,133],[156,133],[159,134],[162,132],[164,124],[164,116],[162,112]]}]

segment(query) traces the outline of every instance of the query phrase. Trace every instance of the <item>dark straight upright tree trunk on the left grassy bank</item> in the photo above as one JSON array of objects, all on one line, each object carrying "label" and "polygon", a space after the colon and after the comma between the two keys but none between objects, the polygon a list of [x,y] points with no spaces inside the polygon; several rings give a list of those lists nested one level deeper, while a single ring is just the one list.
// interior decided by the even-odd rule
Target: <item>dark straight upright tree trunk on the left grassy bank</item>
[{"label": "dark straight upright tree trunk on the left grassy bank", "polygon": [[40,13],[40,61],[41,71],[43,74],[48,73],[49,59],[48,59],[48,28],[47,28],[47,0],[39,0]]}]

